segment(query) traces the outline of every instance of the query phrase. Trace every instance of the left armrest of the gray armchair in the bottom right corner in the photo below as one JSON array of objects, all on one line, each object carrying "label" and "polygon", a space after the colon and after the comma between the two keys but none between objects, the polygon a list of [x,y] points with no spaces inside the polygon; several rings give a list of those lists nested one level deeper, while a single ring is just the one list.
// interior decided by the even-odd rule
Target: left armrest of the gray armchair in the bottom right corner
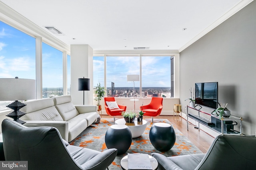
[{"label": "left armrest of the gray armchair in the bottom right corner", "polygon": [[152,153],[151,156],[153,156],[157,160],[158,164],[166,170],[182,170],[182,168],[172,162],[172,160],[160,153]]}]

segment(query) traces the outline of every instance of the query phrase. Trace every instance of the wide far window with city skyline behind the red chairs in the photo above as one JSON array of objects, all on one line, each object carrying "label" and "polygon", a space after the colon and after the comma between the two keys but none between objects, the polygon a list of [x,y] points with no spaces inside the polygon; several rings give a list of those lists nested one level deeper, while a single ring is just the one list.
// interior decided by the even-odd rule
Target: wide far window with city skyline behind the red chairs
[{"label": "wide far window with city skyline behind the red chairs", "polygon": [[[99,82],[99,74],[101,84],[104,82],[104,57],[93,59],[94,86],[96,86]],[[171,56],[106,56],[106,96],[133,98],[135,95],[141,98],[152,96],[171,98],[173,97],[171,95],[172,67]],[[134,84],[127,82],[128,74],[141,74],[142,87],[139,81]]]}]

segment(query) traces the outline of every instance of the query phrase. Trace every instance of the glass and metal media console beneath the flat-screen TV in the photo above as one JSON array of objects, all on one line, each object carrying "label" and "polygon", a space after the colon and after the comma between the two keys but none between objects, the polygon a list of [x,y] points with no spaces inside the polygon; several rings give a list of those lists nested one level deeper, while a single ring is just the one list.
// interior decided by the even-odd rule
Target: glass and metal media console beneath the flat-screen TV
[{"label": "glass and metal media console beneath the flat-screen TV", "polygon": [[[234,117],[230,116],[229,118],[223,118],[220,120],[219,117],[212,115],[211,113],[207,113],[205,111],[201,111],[200,109],[196,109],[195,107],[187,107],[187,117],[198,122],[198,131],[200,130],[200,123],[209,127],[210,129],[218,132],[218,133],[235,133],[242,134],[242,117]],[[196,112],[193,114],[192,112]],[[208,118],[206,118],[208,117]],[[234,125],[238,123],[236,120],[240,121],[240,132],[234,130]],[[188,129],[188,118],[187,118],[187,129]]]}]

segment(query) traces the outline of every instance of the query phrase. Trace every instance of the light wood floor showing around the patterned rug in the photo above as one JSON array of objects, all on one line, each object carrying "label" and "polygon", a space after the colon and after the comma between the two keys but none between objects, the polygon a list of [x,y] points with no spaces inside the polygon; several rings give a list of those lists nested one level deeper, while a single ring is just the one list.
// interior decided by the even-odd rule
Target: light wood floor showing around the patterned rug
[{"label": "light wood floor showing around the patterned rug", "polygon": [[[102,115],[102,118],[112,118],[112,116],[109,115]],[[122,116],[116,116],[116,118],[122,118]],[[150,119],[149,116],[143,116],[143,119]],[[156,119],[168,119],[177,129],[179,129],[184,136],[186,136],[198,149],[200,149],[203,153],[206,153],[209,149],[210,145],[214,141],[214,137],[208,135],[204,131],[198,131],[198,129],[195,129],[193,125],[188,125],[188,131],[187,131],[187,122],[185,119],[182,119],[181,117],[179,121],[173,120],[173,116],[165,116],[160,115],[157,117],[154,117]],[[176,117],[175,117],[176,118]]]}]

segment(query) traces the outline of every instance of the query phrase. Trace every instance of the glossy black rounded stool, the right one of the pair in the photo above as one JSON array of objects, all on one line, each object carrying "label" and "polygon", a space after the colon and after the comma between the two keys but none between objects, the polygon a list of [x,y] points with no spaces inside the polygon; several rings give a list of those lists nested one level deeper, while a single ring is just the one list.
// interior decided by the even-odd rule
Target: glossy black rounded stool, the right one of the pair
[{"label": "glossy black rounded stool, the right one of the pair", "polygon": [[149,139],[157,150],[168,151],[173,147],[176,135],[172,125],[168,123],[154,123],[149,131]]}]

